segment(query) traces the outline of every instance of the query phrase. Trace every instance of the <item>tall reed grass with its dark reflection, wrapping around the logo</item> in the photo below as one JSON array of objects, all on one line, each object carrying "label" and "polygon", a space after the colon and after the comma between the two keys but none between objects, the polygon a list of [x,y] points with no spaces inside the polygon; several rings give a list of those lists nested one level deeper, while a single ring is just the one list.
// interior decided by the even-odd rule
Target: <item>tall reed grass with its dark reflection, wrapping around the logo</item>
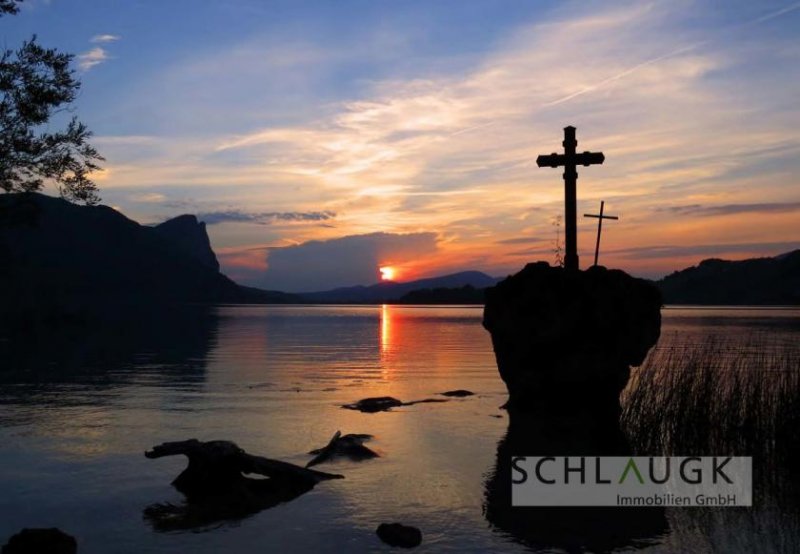
[{"label": "tall reed grass with its dark reflection, wrapping around the logo", "polygon": [[800,344],[786,334],[662,337],[622,393],[640,455],[753,457],[752,509],[672,509],[666,552],[797,552]]}]

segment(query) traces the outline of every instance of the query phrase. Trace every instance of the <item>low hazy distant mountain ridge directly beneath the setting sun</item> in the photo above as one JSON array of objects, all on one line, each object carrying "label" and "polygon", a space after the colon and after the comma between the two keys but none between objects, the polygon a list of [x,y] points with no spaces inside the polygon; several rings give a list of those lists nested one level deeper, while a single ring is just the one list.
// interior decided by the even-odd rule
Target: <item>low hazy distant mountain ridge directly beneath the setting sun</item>
[{"label": "low hazy distant mountain ridge directly beneath the setting sun", "polygon": [[499,281],[480,271],[461,271],[402,283],[383,282],[371,286],[342,287],[327,291],[300,293],[302,301],[308,303],[333,304],[379,304],[395,302],[406,294],[423,289],[454,289],[470,286],[484,289],[494,286]]}]

